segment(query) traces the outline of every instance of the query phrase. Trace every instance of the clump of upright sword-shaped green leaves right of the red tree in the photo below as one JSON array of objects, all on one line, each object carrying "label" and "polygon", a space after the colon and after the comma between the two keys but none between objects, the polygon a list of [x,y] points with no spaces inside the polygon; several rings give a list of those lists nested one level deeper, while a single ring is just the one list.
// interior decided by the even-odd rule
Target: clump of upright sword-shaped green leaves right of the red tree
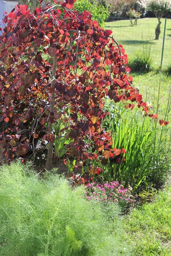
[{"label": "clump of upright sword-shaped green leaves right of the red tree", "polygon": [[[111,104],[109,102],[106,108],[110,109]],[[126,187],[129,184],[136,190],[149,173],[155,129],[150,119],[142,117],[138,111],[130,116],[126,108],[112,104],[112,111],[104,122],[104,126],[109,125],[108,129],[112,131],[113,146],[122,148],[124,161],[121,162],[119,157],[109,159],[103,175],[107,180],[124,181]]]}]

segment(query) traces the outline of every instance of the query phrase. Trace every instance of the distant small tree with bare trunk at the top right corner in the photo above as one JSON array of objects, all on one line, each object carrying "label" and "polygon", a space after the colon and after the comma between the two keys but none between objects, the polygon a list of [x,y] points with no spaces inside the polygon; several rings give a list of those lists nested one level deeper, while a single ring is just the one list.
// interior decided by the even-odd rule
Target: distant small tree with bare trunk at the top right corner
[{"label": "distant small tree with bare trunk at the top right corner", "polygon": [[171,1],[169,0],[139,0],[138,4],[140,4],[146,11],[153,12],[158,19],[158,25],[156,27],[156,37],[155,40],[159,40],[160,35],[160,25],[161,18],[164,15],[171,11]]}]

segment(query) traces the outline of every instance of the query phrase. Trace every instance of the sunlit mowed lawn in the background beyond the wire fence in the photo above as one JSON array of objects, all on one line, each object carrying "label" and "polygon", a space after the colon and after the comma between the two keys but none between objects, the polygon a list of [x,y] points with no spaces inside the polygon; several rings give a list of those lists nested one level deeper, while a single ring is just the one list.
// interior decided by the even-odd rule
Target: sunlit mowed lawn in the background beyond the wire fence
[{"label": "sunlit mowed lawn in the background beyond the wire fence", "polygon": [[134,26],[130,19],[111,17],[107,21],[105,28],[113,31],[115,40],[125,48],[129,59],[136,55],[150,55],[153,67],[171,66],[171,19],[161,19],[159,40],[154,40],[157,18],[138,19]]}]

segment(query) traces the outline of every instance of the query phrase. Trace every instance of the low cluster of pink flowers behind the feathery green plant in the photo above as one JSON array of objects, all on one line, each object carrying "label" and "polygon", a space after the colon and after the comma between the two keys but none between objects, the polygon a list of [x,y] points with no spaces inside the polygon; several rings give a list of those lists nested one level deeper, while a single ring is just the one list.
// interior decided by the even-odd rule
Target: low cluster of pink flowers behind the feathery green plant
[{"label": "low cluster of pink flowers behind the feathery green plant", "polygon": [[88,200],[106,202],[108,204],[119,204],[122,208],[129,208],[134,205],[135,197],[131,194],[133,189],[128,186],[124,188],[119,182],[90,183],[86,185],[86,197]]}]

